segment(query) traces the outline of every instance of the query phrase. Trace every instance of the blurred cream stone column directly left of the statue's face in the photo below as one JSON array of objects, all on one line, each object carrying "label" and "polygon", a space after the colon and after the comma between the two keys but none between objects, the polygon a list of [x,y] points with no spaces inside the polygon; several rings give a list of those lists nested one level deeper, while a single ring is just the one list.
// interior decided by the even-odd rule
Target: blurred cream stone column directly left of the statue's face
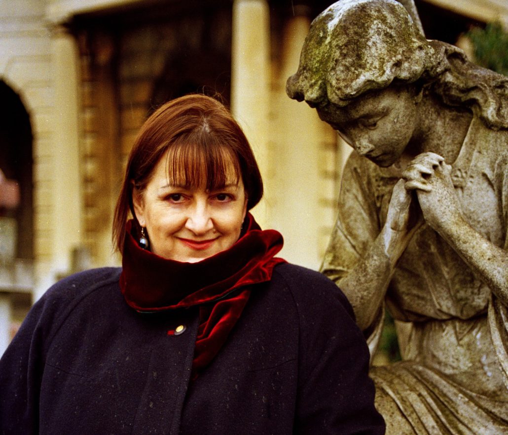
[{"label": "blurred cream stone column directly left of the statue's face", "polygon": [[317,269],[322,260],[322,240],[328,239],[324,228],[333,225],[335,218],[329,203],[336,197],[336,135],[314,109],[285,93],[287,79],[298,69],[310,26],[307,7],[295,6],[294,12],[284,26],[276,81],[277,109],[272,124],[277,161],[274,226],[284,236],[281,256]]}]

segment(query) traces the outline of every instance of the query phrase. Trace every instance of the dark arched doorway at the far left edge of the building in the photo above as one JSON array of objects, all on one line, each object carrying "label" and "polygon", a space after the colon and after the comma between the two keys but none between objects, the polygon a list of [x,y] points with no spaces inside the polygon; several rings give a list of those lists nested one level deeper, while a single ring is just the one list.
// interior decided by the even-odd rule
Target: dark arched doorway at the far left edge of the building
[{"label": "dark arched doorway at the far left edge of the building", "polygon": [[32,140],[30,117],[21,98],[0,79],[0,170],[9,180],[2,182],[0,201],[0,355],[31,305]]}]

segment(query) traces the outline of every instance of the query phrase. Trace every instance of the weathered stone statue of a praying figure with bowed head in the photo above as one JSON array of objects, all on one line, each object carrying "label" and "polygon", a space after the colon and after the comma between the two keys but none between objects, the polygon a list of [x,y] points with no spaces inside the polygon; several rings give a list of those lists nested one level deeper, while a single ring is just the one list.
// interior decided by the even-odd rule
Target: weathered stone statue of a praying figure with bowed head
[{"label": "weathered stone statue of a praying figure with bowed head", "polygon": [[287,92],[354,148],[322,272],[372,352],[396,320],[403,360],[371,367],[387,433],[508,433],[508,79],[394,0],[343,0]]}]

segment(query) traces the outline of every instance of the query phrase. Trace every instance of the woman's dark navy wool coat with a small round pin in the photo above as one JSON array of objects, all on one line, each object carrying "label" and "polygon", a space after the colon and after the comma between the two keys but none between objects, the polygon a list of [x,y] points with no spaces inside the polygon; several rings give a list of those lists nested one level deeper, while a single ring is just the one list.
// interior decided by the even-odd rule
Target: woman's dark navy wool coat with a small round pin
[{"label": "woman's dark navy wool coat with a small round pin", "polygon": [[362,333],[322,275],[276,266],[195,381],[198,311],[136,312],[119,275],[71,276],[33,307],[0,360],[0,433],[384,433]]}]

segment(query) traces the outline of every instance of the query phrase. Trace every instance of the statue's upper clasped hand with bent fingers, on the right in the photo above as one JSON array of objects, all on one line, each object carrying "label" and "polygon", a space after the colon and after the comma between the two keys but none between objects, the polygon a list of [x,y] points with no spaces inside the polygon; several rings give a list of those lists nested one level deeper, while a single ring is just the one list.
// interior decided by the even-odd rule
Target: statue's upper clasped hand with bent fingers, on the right
[{"label": "statue's upper clasped hand with bent fingers, on the right", "polygon": [[405,188],[416,190],[425,221],[440,233],[463,219],[451,169],[440,155],[428,152],[416,156],[402,174]]}]

